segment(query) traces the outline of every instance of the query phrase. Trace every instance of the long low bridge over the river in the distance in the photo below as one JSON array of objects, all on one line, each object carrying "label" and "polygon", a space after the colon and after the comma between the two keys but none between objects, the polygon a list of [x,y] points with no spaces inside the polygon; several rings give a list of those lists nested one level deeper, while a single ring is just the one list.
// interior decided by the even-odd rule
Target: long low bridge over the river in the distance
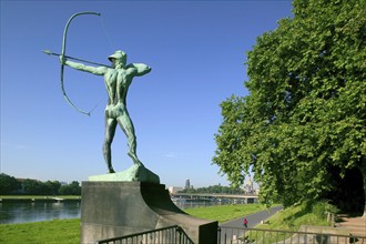
[{"label": "long low bridge over the river in the distance", "polygon": [[223,194],[223,193],[171,193],[172,201],[213,201],[233,203],[256,203],[258,196],[254,194]]}]

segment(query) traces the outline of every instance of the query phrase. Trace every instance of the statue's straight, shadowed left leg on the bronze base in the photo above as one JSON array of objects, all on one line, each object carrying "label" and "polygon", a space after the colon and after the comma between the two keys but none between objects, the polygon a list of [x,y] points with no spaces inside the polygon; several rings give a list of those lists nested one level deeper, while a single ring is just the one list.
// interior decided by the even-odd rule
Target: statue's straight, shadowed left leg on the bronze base
[{"label": "statue's straight, shadowed left leg on the bronze base", "polygon": [[105,136],[104,136],[104,144],[103,144],[103,156],[106,163],[109,173],[114,173],[112,166],[112,152],[111,152],[111,144],[113,142],[114,133],[116,128],[116,121],[114,119],[105,118]]}]

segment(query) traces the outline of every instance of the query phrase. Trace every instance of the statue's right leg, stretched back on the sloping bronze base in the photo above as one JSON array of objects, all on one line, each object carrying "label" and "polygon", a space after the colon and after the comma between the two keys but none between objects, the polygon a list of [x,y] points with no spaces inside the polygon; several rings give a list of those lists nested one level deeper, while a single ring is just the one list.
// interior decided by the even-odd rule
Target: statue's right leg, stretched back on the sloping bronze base
[{"label": "statue's right leg, stretched back on the sloping bronze base", "polygon": [[136,135],[134,133],[134,126],[131,118],[129,116],[129,113],[126,112],[123,115],[119,116],[118,121],[122,131],[128,138],[128,145],[129,145],[128,155],[132,159],[133,163],[138,165],[143,165],[136,154],[136,146],[138,146]]}]

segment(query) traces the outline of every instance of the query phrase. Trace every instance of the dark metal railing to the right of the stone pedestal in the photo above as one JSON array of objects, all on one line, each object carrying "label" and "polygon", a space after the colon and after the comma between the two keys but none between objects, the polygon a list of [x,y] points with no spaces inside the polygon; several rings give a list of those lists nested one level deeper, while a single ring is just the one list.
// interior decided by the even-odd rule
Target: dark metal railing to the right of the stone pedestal
[{"label": "dark metal railing to the right of the stone pedestal", "polygon": [[218,227],[218,244],[366,244],[366,236]]}]

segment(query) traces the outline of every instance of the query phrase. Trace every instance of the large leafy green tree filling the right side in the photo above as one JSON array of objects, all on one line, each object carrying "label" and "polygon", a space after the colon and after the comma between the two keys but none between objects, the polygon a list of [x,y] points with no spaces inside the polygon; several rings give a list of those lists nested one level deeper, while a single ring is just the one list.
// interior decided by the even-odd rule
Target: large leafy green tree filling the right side
[{"label": "large leafy green tree filling the right side", "polygon": [[234,185],[254,171],[268,203],[318,200],[334,166],[366,195],[366,1],[293,7],[247,53],[250,95],[222,102],[213,162]]}]

